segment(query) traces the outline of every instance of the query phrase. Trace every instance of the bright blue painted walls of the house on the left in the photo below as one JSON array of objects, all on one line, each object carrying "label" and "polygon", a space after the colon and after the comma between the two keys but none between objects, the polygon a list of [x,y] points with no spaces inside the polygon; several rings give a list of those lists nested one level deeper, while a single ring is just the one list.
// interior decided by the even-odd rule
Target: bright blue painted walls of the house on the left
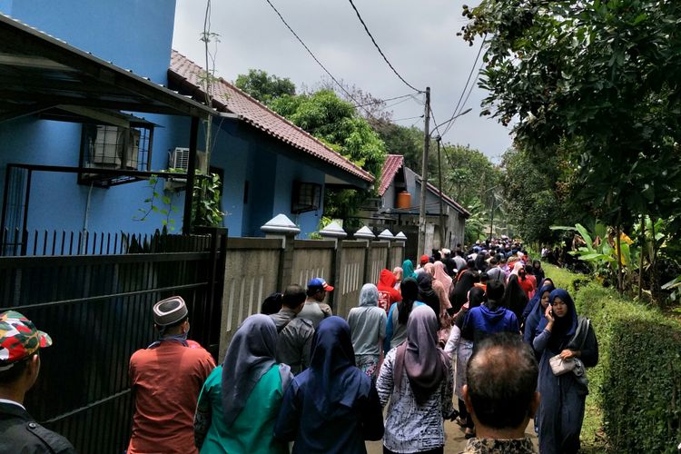
[{"label": "bright blue painted walls of the house on the left", "polygon": [[[76,47],[136,74],[167,84],[173,40],[175,0],[0,0],[0,11],[54,35]],[[144,115],[158,127],[153,135],[152,170],[168,167],[168,153],[189,146],[186,117]],[[320,210],[291,214],[293,182],[320,183],[324,173],[305,162],[311,158],[287,157],[291,147],[234,120],[215,120],[213,167],[224,172],[222,210],[224,226],[232,236],[262,236],[260,227],[284,213],[301,228],[301,237],[316,232]],[[77,166],[80,124],[39,120],[36,117],[0,123],[0,169],[7,163]],[[202,128],[201,128],[202,129]],[[199,134],[199,149],[204,133]],[[245,182],[248,185],[244,205]],[[0,191],[5,173],[0,173]],[[153,232],[163,227],[164,216],[151,213],[137,221],[152,196],[147,182],[126,183],[109,189],[77,183],[73,173],[34,173],[29,230],[78,232]],[[163,193],[163,182],[156,187]],[[182,229],[184,192],[171,195],[175,229]],[[159,202],[158,200],[156,202]],[[163,206],[163,208],[170,208]],[[15,210],[20,212],[20,210]]]}]

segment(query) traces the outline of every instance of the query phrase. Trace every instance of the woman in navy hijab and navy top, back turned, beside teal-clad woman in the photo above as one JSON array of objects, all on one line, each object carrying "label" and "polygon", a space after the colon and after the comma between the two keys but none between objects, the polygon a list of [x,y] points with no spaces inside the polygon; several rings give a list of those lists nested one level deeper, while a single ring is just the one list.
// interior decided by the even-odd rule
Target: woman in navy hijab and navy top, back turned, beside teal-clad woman
[{"label": "woman in navy hijab and navy top, back turned, beside teal-clad woman", "polygon": [[286,391],[274,436],[294,441],[293,453],[366,453],[365,439],[383,437],[379,395],[355,367],[350,326],[321,321],[312,339],[310,368]]}]

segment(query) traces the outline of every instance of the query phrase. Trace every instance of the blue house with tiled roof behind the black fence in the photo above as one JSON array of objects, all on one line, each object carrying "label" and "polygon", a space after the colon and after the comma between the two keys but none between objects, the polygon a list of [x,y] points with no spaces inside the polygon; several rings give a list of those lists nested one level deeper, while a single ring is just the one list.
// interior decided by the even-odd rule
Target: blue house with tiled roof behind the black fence
[{"label": "blue house with tiled roof behind the black fence", "polygon": [[[305,235],[317,230],[326,187],[373,183],[222,80],[204,105],[202,69],[172,51],[173,0],[0,0],[0,13],[5,230],[187,231],[184,188],[210,170],[222,175],[230,235],[260,235],[280,212]],[[149,177],[171,167],[183,174],[152,187]]]}]

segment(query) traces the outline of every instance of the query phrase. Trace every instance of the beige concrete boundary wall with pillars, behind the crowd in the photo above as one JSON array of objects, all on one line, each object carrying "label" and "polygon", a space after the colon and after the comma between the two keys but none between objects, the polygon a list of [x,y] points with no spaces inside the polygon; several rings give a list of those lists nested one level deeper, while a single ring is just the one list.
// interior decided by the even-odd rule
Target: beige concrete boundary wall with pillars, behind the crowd
[{"label": "beige concrete boundary wall with pillars, behind the crowd", "polygon": [[[329,240],[229,238],[219,358],[224,357],[242,321],[258,313],[268,295],[283,291],[291,283],[305,287],[311,278],[325,279],[334,286],[333,313],[347,318],[350,309],[358,305],[362,285],[377,283],[380,271],[391,267],[387,262],[389,243],[342,241],[338,245],[340,251],[336,249],[337,243]],[[393,243],[390,252],[395,260],[397,257],[401,260],[402,243]],[[339,253],[340,262],[336,265]],[[291,278],[283,281],[287,275]]]}]

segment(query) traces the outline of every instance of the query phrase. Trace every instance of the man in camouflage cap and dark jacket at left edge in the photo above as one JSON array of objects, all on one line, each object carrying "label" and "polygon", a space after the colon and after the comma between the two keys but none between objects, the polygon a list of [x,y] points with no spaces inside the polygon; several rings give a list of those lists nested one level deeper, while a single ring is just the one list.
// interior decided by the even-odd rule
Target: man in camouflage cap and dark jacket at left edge
[{"label": "man in camouflage cap and dark jacket at left edge", "polygon": [[39,350],[52,345],[43,331],[17,311],[0,314],[0,452],[75,452],[61,435],[35,422],[24,397],[40,371]]}]

